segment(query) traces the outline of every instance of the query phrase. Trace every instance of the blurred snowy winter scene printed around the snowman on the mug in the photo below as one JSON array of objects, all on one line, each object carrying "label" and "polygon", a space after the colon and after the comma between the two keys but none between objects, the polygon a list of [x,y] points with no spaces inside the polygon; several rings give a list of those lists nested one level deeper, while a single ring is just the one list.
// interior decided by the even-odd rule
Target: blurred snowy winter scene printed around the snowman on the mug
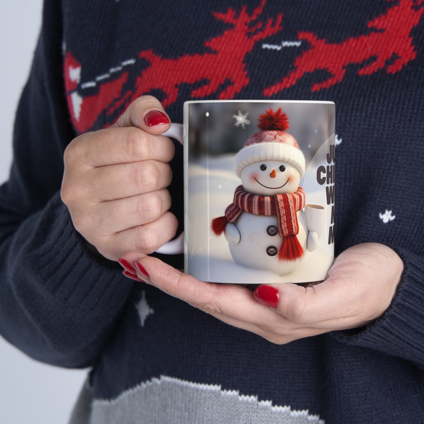
[{"label": "blurred snowy winter scene printed around the snowman on the mug", "polygon": [[[306,252],[299,266],[281,276],[237,265],[222,235],[210,228],[212,218],[222,216],[241,184],[234,172],[234,157],[255,132],[265,109],[279,107],[287,113],[287,130],[304,153],[306,173],[300,185],[306,204],[325,206],[324,228],[318,247]],[[324,279],[333,260],[333,244],[328,244],[331,205],[326,204],[326,185],[317,182],[317,168],[328,165],[326,153],[334,144],[334,105],[301,102],[220,102],[190,103],[188,109],[188,272],[198,279],[225,283],[309,282]],[[264,233],[265,234],[265,233]],[[300,235],[300,234],[299,234]],[[266,236],[265,236],[266,237]],[[252,255],[260,252],[252,251]],[[277,259],[277,257],[272,258]]]}]

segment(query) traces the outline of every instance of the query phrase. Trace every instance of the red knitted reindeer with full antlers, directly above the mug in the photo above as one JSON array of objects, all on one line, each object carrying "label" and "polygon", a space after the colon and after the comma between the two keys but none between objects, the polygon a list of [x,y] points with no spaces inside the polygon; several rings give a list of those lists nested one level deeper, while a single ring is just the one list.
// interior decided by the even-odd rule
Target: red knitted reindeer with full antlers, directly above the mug
[{"label": "red knitted reindeer with full antlers, directly above the mug", "polygon": [[219,93],[218,98],[233,98],[250,80],[245,69],[246,54],[251,52],[256,42],[282,30],[282,13],[276,17],[274,24],[273,19],[268,19],[265,26],[263,22],[250,25],[262,14],[265,3],[266,0],[262,0],[250,16],[246,6],[241,8],[238,16],[232,8],[226,13],[213,13],[215,19],[233,27],[204,43],[212,53],[184,55],[177,59],[164,59],[152,50],[139,53],[139,57],[146,59],[150,66],[137,78],[135,92],[127,93],[132,94],[127,104],[152,89],[160,89],[166,96],[162,104],[167,107],[176,101],[180,84],[195,84],[202,80],[207,80],[206,84],[193,89],[192,98],[215,93],[228,82],[230,84]]}]

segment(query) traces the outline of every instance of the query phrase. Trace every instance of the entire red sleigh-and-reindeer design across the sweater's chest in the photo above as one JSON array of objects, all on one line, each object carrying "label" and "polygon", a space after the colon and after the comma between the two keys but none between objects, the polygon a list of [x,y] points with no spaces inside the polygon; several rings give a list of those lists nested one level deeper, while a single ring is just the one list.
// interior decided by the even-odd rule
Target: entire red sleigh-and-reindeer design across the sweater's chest
[{"label": "entire red sleigh-and-reindeer design across the sweater's chest", "polygon": [[[387,0],[391,2],[393,0]],[[341,43],[329,43],[319,39],[311,32],[301,31],[299,39],[310,42],[310,48],[294,61],[293,71],[280,83],[265,88],[263,94],[271,96],[282,91],[301,79],[305,73],[315,70],[328,70],[331,76],[321,83],[312,85],[312,91],[318,91],[343,80],[349,64],[364,64],[358,75],[370,75],[386,66],[389,59],[393,63],[387,66],[387,73],[396,73],[409,61],[416,58],[416,50],[412,44],[410,33],[424,13],[424,0],[397,0],[399,3],[388,8],[385,14],[368,21],[368,34],[351,37]],[[237,14],[232,8],[225,13],[215,12],[213,17],[231,28],[221,35],[209,39],[204,46],[207,53],[183,55],[176,59],[166,59],[152,50],[143,50],[139,57],[146,59],[149,66],[136,78],[133,89],[123,94],[123,87],[128,80],[128,72],[119,78],[102,82],[97,94],[81,96],[79,89],[79,73],[81,67],[72,55],[67,55],[64,62],[67,100],[75,128],[84,132],[92,128],[98,117],[126,108],[132,100],[152,90],[160,90],[164,94],[164,107],[174,103],[178,97],[181,84],[196,84],[205,81],[204,85],[193,88],[192,98],[204,98],[218,93],[218,98],[234,98],[250,78],[246,70],[245,59],[255,44],[268,36],[282,30],[280,13],[274,19],[256,22],[263,13],[266,0],[253,13],[247,13],[243,6]],[[369,63],[369,59],[374,59]]]}]

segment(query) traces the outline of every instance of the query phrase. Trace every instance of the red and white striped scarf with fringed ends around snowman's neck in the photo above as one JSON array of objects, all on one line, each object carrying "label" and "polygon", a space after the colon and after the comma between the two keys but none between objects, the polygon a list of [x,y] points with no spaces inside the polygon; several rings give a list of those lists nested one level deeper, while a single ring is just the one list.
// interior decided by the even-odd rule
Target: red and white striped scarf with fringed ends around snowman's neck
[{"label": "red and white striped scarf with fringed ends around snowman's neck", "polygon": [[283,243],[278,252],[278,259],[295,260],[304,255],[303,247],[296,234],[299,232],[297,212],[305,206],[305,192],[302,187],[294,193],[260,196],[252,194],[240,185],[234,192],[234,201],[225,209],[225,216],[212,220],[212,231],[221,235],[227,223],[234,222],[241,212],[255,215],[277,215],[279,234]]}]

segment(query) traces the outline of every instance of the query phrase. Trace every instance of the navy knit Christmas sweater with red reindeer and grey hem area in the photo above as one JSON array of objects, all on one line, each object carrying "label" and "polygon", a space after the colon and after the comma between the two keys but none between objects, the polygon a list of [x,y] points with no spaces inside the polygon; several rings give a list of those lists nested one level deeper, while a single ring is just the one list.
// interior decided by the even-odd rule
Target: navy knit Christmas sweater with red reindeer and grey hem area
[{"label": "navy knit Christmas sweater with red reindeer and grey hem area", "polygon": [[[424,422],[423,14],[413,0],[45,0],[0,188],[0,333],[92,367],[73,423]],[[378,242],[404,262],[382,318],[278,346],[91,254],[60,199],[64,149],[142,94],[175,122],[194,98],[334,101],[336,254]],[[171,166],[182,226],[179,145]]]}]

